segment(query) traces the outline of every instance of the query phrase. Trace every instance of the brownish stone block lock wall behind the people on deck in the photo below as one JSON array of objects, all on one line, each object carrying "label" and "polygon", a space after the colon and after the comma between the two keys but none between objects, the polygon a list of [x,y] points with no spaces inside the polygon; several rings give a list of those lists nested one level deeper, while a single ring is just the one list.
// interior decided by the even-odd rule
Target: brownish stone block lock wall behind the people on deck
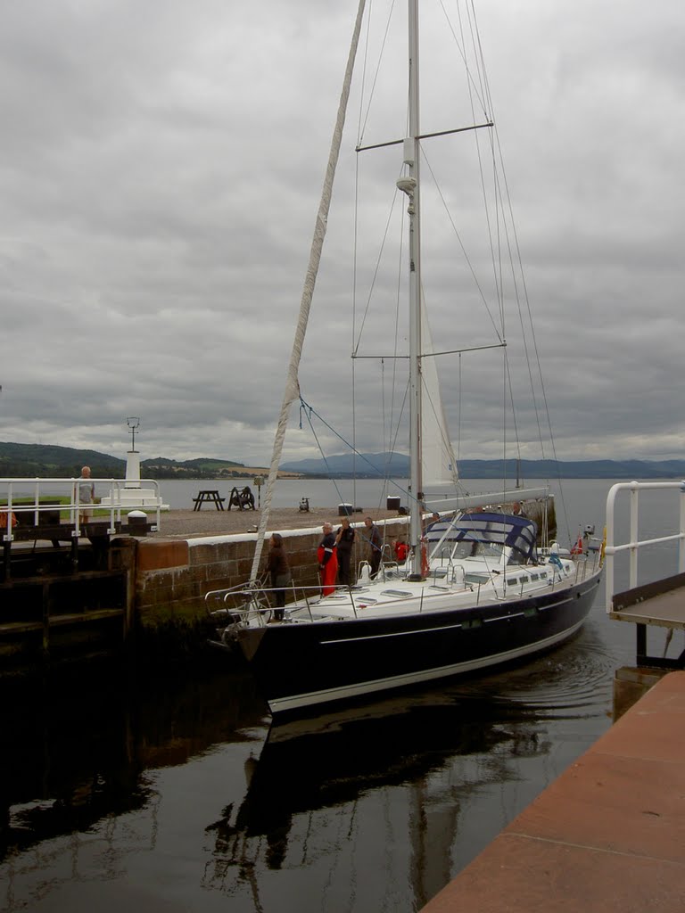
[{"label": "brownish stone block lock wall behind the people on deck", "polygon": [[[385,541],[406,538],[407,519],[379,520]],[[353,567],[368,554],[364,523],[357,530]],[[316,550],[321,530],[284,530],[283,536],[294,582],[319,582]],[[206,618],[205,593],[248,581],[256,533],[202,539],[141,539],[136,544],[135,608],[143,627],[193,625]],[[269,544],[265,542],[262,566]]]}]

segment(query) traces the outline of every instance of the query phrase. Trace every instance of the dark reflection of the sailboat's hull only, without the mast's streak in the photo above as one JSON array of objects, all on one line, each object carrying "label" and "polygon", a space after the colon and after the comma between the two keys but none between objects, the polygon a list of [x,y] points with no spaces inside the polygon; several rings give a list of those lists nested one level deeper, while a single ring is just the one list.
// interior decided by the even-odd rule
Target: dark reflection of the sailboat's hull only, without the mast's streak
[{"label": "dark reflection of the sailboat's hull only, without the mast's streak", "polygon": [[[237,866],[237,876],[245,874],[241,866],[254,866],[254,858],[245,858],[246,840],[260,836],[266,838],[265,865],[284,866],[298,816],[342,807],[352,816],[364,796],[387,788],[423,793],[424,808],[411,834],[412,842],[423,845],[433,790],[442,803],[452,803],[457,819],[470,794],[510,781],[518,775],[517,759],[549,750],[549,740],[541,739],[527,716],[501,698],[424,692],[272,727],[258,759],[250,759],[243,802],[227,805],[207,828],[223,857],[217,878],[224,878],[227,866]],[[475,758],[479,763],[470,771],[459,763]],[[451,785],[444,778],[448,768],[452,776],[461,771]],[[444,834],[447,849],[452,836]]]}]

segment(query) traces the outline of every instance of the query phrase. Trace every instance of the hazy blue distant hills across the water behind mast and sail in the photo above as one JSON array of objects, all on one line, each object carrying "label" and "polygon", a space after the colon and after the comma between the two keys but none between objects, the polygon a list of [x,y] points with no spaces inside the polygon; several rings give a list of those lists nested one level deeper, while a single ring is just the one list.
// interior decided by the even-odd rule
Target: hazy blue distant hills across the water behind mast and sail
[{"label": "hazy blue distant hills across the water behind mast and sail", "polygon": [[[391,467],[389,471],[387,465]],[[515,478],[516,460],[464,459],[459,461],[462,478]],[[381,478],[385,475],[406,478],[409,457],[404,454],[350,454],[322,459],[304,459],[284,463],[282,469],[319,477]],[[522,479],[526,478],[685,478],[685,460],[522,460]]]}]

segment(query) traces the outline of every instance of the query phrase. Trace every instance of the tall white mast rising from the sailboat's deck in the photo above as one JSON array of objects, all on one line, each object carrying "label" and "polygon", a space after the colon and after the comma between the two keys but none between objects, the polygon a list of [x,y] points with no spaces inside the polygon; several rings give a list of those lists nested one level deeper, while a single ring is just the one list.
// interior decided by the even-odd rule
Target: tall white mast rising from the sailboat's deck
[{"label": "tall white mast rising from the sailboat's deck", "polygon": [[418,117],[418,0],[409,0],[409,135],[405,140],[408,176],[397,182],[409,213],[409,486],[412,505],[409,544],[414,553],[410,577],[421,577],[423,483],[421,477],[421,231]]}]

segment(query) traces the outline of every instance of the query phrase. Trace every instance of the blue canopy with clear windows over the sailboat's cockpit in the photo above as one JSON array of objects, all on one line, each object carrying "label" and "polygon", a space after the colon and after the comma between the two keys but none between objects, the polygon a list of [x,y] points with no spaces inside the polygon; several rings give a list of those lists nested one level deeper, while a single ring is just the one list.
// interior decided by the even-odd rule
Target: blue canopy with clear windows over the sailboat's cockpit
[{"label": "blue canopy with clear windows over the sailboat's cockpit", "polygon": [[537,525],[527,517],[495,511],[474,510],[455,520],[436,520],[426,530],[428,543],[482,542],[511,549],[510,563],[524,564],[535,559]]}]

